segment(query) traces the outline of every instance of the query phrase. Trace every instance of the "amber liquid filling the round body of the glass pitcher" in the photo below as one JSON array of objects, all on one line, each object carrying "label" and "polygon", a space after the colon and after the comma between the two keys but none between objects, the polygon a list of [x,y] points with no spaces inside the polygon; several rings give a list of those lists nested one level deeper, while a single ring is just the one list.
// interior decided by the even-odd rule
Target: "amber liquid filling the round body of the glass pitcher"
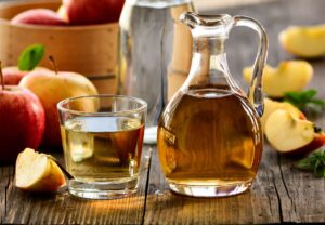
[{"label": "amber liquid filling the round body of the glass pitcher", "polygon": [[158,149],[169,184],[235,186],[256,176],[263,136],[240,94],[218,89],[180,92],[161,116]]}]

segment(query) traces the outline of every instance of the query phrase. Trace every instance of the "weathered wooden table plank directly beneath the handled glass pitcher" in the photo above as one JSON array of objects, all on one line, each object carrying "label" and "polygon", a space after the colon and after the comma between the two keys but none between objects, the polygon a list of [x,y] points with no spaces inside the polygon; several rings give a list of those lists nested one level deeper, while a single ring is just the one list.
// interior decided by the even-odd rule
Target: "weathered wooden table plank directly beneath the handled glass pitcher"
[{"label": "weathered wooden table plank directly beneath the handled glass pitcher", "polygon": [[270,170],[270,164],[276,160],[269,153],[264,154],[257,181],[243,195],[230,198],[190,198],[173,195],[169,190],[160,171],[157,151],[154,151],[144,224],[280,223],[275,172]]}]

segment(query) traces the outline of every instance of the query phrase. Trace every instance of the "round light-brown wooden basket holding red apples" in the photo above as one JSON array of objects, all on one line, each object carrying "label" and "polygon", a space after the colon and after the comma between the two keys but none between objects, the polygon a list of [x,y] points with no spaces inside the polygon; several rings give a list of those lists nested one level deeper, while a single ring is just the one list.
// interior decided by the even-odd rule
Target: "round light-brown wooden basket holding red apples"
[{"label": "round light-brown wooden basket holding red apples", "polygon": [[87,76],[100,93],[115,94],[117,90],[118,24],[91,26],[13,25],[16,14],[36,8],[56,11],[61,1],[18,1],[0,3],[0,59],[3,66],[15,66],[21,52],[34,43],[46,45],[40,66],[51,68],[53,55],[60,70]]}]

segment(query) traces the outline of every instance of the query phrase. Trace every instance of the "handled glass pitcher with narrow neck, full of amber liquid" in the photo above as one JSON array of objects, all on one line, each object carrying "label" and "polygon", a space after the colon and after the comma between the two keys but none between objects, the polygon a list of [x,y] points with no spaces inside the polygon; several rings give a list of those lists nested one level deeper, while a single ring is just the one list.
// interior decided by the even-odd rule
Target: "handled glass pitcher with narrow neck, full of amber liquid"
[{"label": "handled glass pitcher with narrow neck, full of amber liquid", "polygon": [[[190,75],[158,123],[158,151],[171,190],[195,197],[231,196],[251,185],[263,149],[262,70],[268,37],[245,16],[181,15],[194,39]],[[224,42],[235,26],[260,36],[248,96],[233,80]]]}]

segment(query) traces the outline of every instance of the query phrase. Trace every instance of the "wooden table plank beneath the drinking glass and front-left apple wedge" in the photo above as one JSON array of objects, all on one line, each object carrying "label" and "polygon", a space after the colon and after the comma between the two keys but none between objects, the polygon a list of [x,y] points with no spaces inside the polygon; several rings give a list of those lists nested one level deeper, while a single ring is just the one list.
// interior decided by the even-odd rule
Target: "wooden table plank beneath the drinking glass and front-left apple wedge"
[{"label": "wooden table plank beneath the drinking glass and front-left apple wedge", "polygon": [[144,147],[139,191],[129,198],[116,200],[84,200],[64,190],[53,196],[28,194],[14,186],[13,167],[0,167],[0,223],[141,224],[150,158],[151,151]]}]

